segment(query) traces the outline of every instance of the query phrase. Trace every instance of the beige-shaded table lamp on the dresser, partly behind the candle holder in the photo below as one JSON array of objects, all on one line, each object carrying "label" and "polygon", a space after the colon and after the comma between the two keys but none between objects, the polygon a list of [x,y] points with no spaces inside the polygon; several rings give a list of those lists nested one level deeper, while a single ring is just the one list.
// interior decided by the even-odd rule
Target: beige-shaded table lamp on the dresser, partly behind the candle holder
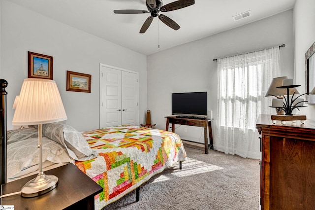
[{"label": "beige-shaded table lamp on the dresser, partly behind the candle holder", "polygon": [[[286,94],[287,91],[286,89],[281,89],[281,88],[277,88],[280,86],[283,86],[283,80],[287,79],[287,76],[281,76],[281,77],[276,77],[273,78],[271,81],[271,84],[268,88],[268,91],[265,95],[265,97],[268,96],[275,96],[277,99],[273,100],[273,105],[274,107],[276,107],[276,111],[277,114],[284,114],[284,110],[281,108],[283,107],[283,99]],[[289,89],[289,95],[293,95],[293,94],[300,94],[296,88],[290,88]]]}]

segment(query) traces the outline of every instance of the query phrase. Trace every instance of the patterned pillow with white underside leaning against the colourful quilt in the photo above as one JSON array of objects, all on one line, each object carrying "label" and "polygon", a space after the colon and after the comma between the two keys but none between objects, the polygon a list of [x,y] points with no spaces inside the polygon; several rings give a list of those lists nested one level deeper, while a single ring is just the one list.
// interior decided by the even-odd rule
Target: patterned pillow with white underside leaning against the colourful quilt
[{"label": "patterned pillow with white underside leaning against the colourful quilt", "polygon": [[44,124],[43,135],[63,145],[74,160],[91,160],[97,155],[82,134],[69,125],[63,123]]}]

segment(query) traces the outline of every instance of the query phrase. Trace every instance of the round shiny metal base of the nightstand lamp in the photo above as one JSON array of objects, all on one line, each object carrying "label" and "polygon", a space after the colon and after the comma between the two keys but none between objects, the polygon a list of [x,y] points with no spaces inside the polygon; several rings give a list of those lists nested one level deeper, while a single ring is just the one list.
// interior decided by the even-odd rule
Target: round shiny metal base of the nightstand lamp
[{"label": "round shiny metal base of the nightstand lamp", "polygon": [[22,197],[32,198],[51,191],[58,185],[58,177],[55,175],[45,175],[39,172],[32,180],[28,181],[21,190]]}]

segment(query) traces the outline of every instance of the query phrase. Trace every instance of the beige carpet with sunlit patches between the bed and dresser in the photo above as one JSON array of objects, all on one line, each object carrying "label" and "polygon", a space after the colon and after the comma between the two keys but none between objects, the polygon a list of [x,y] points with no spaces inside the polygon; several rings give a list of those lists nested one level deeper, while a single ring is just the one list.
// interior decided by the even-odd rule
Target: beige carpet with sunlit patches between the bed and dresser
[{"label": "beige carpet with sunlit patches between the bed and dresser", "polygon": [[187,161],[152,177],[104,210],[258,210],[259,160],[185,144]]}]

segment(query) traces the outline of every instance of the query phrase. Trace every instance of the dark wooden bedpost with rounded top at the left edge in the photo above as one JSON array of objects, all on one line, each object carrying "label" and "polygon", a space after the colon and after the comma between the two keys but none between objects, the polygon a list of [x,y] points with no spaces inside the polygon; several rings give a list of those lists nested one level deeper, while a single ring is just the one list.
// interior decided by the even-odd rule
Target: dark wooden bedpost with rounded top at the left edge
[{"label": "dark wooden bedpost with rounded top at the left edge", "polygon": [[0,184],[6,183],[6,95],[8,82],[0,79]]}]

